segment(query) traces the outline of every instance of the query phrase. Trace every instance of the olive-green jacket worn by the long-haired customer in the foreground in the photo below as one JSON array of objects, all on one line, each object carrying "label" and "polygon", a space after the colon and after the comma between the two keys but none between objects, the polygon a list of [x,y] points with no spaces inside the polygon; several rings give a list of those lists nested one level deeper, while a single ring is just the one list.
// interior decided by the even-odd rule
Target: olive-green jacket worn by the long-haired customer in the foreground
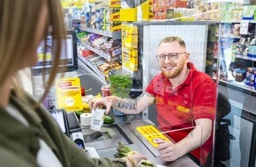
[{"label": "olive-green jacket worn by the long-haired customer in the foreground", "polygon": [[29,127],[11,117],[0,106],[0,167],[34,167],[39,150],[39,138],[53,150],[64,167],[71,166],[126,166],[122,159],[92,159],[72,142],[42,106],[32,108],[35,101],[29,95],[24,101],[11,95],[10,103],[29,122]]}]

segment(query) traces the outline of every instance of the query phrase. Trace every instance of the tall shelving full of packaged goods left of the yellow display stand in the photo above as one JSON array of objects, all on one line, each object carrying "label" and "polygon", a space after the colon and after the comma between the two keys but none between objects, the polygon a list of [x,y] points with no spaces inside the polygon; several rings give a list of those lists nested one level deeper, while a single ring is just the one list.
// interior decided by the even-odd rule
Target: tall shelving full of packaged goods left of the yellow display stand
[{"label": "tall shelving full of packaged goods left of the yellow display stand", "polygon": [[107,81],[110,69],[121,68],[120,0],[89,1],[81,8],[79,62]]}]

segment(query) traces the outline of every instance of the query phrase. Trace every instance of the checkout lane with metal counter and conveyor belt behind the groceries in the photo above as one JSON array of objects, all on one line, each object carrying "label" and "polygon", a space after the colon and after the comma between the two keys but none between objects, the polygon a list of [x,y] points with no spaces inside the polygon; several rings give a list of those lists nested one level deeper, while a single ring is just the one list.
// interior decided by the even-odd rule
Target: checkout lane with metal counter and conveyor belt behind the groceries
[{"label": "checkout lane with metal counter and conveyor belt behind the groceries", "polygon": [[[81,82],[81,86],[86,90],[92,88],[87,94],[96,95],[101,92],[102,84],[106,84],[99,76],[96,76],[89,69],[79,69],[78,74]],[[85,72],[86,70],[86,72]],[[109,113],[114,116],[113,112]],[[115,123],[111,125],[104,125],[102,127],[101,134],[94,134],[92,139],[90,136],[95,131],[89,127],[81,126],[82,134],[84,135],[86,147],[93,147],[96,149],[100,157],[114,158],[114,154],[117,153],[118,142],[127,145],[131,149],[139,151],[139,153],[147,156],[148,159],[154,161],[154,163],[164,166],[183,166],[183,167],[198,167],[199,164],[193,160],[191,156],[182,156],[176,161],[171,163],[165,163],[159,156],[158,150],[156,150],[141,134],[138,133],[136,127],[154,125],[151,120],[143,120],[141,114],[138,115],[125,115],[123,117],[115,117]],[[171,140],[171,139],[170,139]]]}]

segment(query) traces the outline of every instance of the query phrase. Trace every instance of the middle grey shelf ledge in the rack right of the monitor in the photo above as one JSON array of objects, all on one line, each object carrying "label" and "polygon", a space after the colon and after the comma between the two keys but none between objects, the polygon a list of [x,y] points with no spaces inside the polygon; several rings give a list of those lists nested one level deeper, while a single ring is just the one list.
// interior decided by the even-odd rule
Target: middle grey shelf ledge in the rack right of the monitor
[{"label": "middle grey shelf ledge in the rack right of the monitor", "polygon": [[111,56],[110,54],[106,54],[104,52],[102,52],[101,50],[98,50],[94,47],[89,46],[87,43],[85,42],[81,42],[81,44],[84,47],[87,47],[87,49],[93,51],[95,54],[99,54],[101,55],[104,59],[108,60],[108,61],[117,61],[119,59],[119,55],[122,53],[122,48],[118,48],[116,50],[113,51],[113,56]]}]

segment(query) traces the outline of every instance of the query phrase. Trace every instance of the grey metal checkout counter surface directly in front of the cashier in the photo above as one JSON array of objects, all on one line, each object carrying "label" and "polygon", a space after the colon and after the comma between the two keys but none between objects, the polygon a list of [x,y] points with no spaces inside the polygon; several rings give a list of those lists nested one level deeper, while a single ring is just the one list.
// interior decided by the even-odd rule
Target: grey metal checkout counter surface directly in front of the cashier
[{"label": "grey metal checkout counter surface directly in front of the cashier", "polygon": [[147,125],[154,124],[150,120],[142,120],[140,115],[125,115],[123,117],[115,117],[113,124],[104,124],[101,131],[94,131],[89,126],[81,126],[81,131],[85,147],[96,149],[100,157],[115,158],[114,155],[117,153],[118,142],[121,142],[129,148],[139,151],[140,154],[147,156],[149,160],[158,164],[159,167],[199,166],[192,156],[182,156],[171,163],[163,162],[158,150],[142,134],[139,134],[139,131],[136,129],[136,127]]}]

